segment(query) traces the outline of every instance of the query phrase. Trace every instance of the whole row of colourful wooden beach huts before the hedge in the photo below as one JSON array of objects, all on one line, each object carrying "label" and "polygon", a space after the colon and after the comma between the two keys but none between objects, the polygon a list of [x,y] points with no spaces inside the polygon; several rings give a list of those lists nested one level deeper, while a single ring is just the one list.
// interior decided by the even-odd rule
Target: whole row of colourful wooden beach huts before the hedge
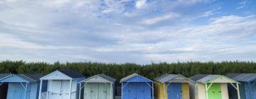
[{"label": "whole row of colourful wooden beach huts before the hedge", "polygon": [[[78,71],[0,74],[0,99],[114,99],[116,80]],[[256,99],[256,74],[165,74],[151,81],[132,74],[120,81],[122,99]]]}]

